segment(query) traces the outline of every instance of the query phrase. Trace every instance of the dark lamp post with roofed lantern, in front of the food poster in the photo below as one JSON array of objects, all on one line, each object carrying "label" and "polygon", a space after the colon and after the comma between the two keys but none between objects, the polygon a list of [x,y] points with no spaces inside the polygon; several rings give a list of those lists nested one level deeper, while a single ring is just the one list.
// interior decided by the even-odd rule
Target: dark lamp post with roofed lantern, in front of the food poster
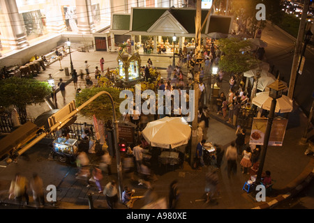
[{"label": "dark lamp post with roofed lantern, in front of the food poster", "polygon": [[273,98],[273,100],[271,100],[271,108],[269,110],[267,128],[264,134],[264,144],[263,144],[262,153],[260,157],[260,167],[257,171],[257,177],[255,180],[256,185],[260,185],[261,183],[262,171],[264,167],[267,146],[269,143],[269,136],[271,133],[271,125],[273,124],[273,121],[274,121],[274,114],[275,114],[277,99],[281,98],[281,96],[283,95],[283,90],[287,88],[285,84],[283,84],[283,82],[281,82],[279,79],[276,79],[274,83],[269,84],[267,87],[269,88],[269,97]]}]

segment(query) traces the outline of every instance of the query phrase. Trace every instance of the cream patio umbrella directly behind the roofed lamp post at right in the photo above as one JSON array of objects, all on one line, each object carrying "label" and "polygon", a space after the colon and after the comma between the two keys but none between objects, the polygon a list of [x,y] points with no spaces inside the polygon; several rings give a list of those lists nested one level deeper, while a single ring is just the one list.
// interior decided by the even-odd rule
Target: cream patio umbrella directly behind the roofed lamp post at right
[{"label": "cream patio umbrella directly behind the roofed lamp post at right", "polygon": [[[252,103],[257,107],[269,111],[271,107],[271,100],[273,99],[269,97],[269,92],[260,92],[256,94],[255,98],[253,98]],[[292,111],[292,100],[289,97],[287,97],[286,95],[282,95],[281,98],[278,98],[276,100],[277,103],[275,112],[285,113]]]}]

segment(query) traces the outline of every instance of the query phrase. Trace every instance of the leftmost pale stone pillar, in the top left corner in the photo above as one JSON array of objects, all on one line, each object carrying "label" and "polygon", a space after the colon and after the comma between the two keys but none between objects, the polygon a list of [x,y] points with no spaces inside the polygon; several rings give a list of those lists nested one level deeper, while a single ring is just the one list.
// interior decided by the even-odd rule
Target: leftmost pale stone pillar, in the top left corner
[{"label": "leftmost pale stone pillar, in the top left corner", "polygon": [[2,23],[1,43],[3,47],[11,49],[22,49],[29,45],[24,28],[23,17],[20,16],[15,0],[1,0]]}]

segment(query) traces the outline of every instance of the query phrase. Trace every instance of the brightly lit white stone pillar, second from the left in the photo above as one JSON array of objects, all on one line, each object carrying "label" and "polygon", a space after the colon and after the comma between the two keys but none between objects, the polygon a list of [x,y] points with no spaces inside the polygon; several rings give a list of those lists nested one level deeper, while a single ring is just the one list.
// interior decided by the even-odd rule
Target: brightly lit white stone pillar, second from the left
[{"label": "brightly lit white stone pillar, second from the left", "polygon": [[50,33],[62,33],[66,31],[66,24],[63,21],[61,6],[58,0],[51,0],[45,5],[46,26]]}]

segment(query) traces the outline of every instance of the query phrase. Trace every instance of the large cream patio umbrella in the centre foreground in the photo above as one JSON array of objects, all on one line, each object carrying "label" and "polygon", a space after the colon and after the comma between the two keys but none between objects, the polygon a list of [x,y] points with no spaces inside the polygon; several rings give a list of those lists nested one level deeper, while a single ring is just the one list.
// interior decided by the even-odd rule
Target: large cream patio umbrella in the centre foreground
[{"label": "large cream patio umbrella in the centre foreground", "polygon": [[144,139],[160,148],[176,148],[188,144],[190,139],[190,125],[181,117],[165,117],[147,123],[142,131]]}]

